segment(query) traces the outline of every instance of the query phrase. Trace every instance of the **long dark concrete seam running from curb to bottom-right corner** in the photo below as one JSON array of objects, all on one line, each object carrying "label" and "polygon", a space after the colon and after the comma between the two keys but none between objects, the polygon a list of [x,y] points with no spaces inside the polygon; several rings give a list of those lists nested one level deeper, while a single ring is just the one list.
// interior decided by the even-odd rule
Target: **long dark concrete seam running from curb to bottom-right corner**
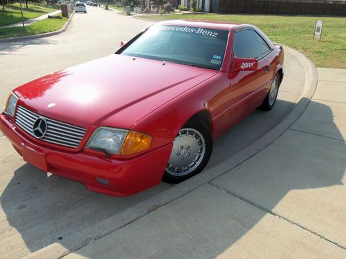
[{"label": "long dark concrete seam running from curb to bottom-right corner", "polygon": [[219,191],[221,191],[222,193],[225,193],[227,195],[231,195],[234,198],[242,200],[243,202],[246,202],[246,203],[250,204],[251,206],[256,207],[257,209],[260,209],[260,210],[262,210],[262,211],[264,211],[266,213],[269,213],[269,214],[273,215],[274,217],[279,218],[280,220],[284,220],[284,221],[286,221],[286,222],[288,222],[290,224],[295,225],[296,227],[299,227],[300,229],[303,229],[304,231],[307,231],[307,232],[313,234],[313,236],[318,236],[318,238],[321,238],[322,240],[325,240],[325,241],[327,241],[327,242],[329,242],[331,244],[334,244],[336,247],[339,247],[340,249],[346,250],[346,247],[344,247],[342,244],[338,244],[337,242],[331,241],[328,238],[325,238],[324,236],[321,236],[319,233],[317,233],[315,231],[312,231],[310,229],[307,229],[306,227],[303,227],[302,225],[300,225],[298,223],[295,223],[292,220],[289,220],[288,218],[285,218],[282,215],[274,213],[273,211],[271,211],[269,209],[266,209],[266,208],[260,206],[259,204],[255,204],[254,202],[251,202],[250,200],[247,200],[246,198],[242,198],[242,196],[239,196],[239,195],[237,195],[237,194],[235,194],[235,193],[233,193],[231,191],[226,191],[225,189],[221,188],[220,186],[218,186],[215,183],[208,182],[208,184],[210,184],[211,186],[215,187],[216,189],[219,189]]}]

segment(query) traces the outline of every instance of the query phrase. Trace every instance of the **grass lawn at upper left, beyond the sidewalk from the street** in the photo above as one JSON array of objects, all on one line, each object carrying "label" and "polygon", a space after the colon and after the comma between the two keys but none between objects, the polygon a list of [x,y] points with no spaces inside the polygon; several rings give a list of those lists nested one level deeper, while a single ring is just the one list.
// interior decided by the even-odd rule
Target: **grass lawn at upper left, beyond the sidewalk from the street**
[{"label": "grass lawn at upper left, beyond the sidewalk from the street", "polygon": [[[59,5],[46,6],[45,4],[36,3],[35,5],[29,3],[28,9],[26,9],[25,3],[21,4],[23,8],[24,20],[33,19],[44,15],[48,12],[54,12],[60,10]],[[0,26],[6,26],[21,21],[21,10],[19,3],[7,4],[5,10],[0,10]]]}]

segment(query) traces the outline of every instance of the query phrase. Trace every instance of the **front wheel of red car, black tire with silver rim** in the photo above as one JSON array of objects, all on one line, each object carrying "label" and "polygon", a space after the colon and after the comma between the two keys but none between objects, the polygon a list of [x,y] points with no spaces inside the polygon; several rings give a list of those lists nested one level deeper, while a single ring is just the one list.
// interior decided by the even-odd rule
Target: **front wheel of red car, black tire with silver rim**
[{"label": "front wheel of red car, black tire with silver rim", "polygon": [[212,153],[212,135],[201,120],[191,119],[173,141],[163,182],[176,184],[200,173]]}]

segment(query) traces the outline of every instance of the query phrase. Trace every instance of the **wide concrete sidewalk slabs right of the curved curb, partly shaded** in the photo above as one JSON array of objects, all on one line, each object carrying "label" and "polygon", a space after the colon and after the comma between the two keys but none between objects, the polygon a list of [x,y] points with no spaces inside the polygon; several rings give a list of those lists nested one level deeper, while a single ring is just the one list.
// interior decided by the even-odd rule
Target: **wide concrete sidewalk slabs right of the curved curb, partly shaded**
[{"label": "wide concrete sidewalk slabs right of the curved curb, partly shaded", "polygon": [[67,257],[346,258],[346,70],[318,75],[275,142]]}]

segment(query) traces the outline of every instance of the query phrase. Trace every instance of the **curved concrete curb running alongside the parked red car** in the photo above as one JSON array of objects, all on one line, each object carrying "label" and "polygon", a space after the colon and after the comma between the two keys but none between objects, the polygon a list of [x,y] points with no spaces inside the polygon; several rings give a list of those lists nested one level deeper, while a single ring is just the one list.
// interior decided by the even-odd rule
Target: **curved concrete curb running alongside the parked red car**
[{"label": "curved concrete curb running alongside the parked red car", "polygon": [[[277,138],[279,138],[297,119],[299,119],[302,113],[304,113],[305,109],[311,102],[313,93],[315,93],[318,81],[318,72],[316,67],[307,57],[289,47],[285,47],[285,50],[286,52],[290,52],[292,55],[295,55],[296,59],[298,59],[305,70],[304,91],[300,97],[300,101],[298,104],[296,104],[289,115],[282,119],[282,122],[272,128],[271,131],[268,131],[268,133],[260,137],[259,140],[242,149],[242,151],[239,151],[232,157],[228,157],[228,159],[224,162],[203,171],[199,175],[196,175],[193,178],[182,182],[181,184],[172,186],[172,188],[158,193],[152,198],[148,198],[147,200],[144,200],[143,202],[140,202],[129,209],[125,209],[124,211],[113,215],[110,218],[107,218],[107,220],[99,222],[88,229],[84,229],[84,231],[78,233],[78,236],[73,236],[73,239],[66,238],[62,244],[53,243],[48,247],[44,247],[43,249],[31,253],[30,255],[26,256],[26,258],[61,258],[69,253],[78,251],[91,242],[107,236],[109,233],[121,229],[122,227],[125,227],[127,224],[131,224],[131,222],[143,218],[148,213],[183,197],[203,184],[214,180],[220,175],[224,175],[224,173],[227,173],[240,164],[246,162],[246,160],[250,159],[257,153],[260,153],[260,151],[262,151],[264,148],[275,142],[275,140],[277,140]],[[97,234],[95,235],[95,233]],[[76,240],[80,241],[76,242]],[[64,247],[64,243],[69,244],[69,249]]]}]

